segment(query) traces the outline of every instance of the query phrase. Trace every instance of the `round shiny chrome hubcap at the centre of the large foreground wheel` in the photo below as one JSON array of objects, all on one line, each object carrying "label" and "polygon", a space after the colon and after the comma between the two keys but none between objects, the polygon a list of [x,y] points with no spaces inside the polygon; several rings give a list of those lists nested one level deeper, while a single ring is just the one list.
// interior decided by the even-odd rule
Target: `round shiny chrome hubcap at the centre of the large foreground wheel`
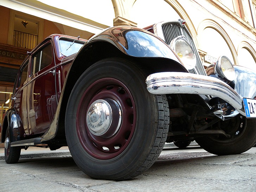
[{"label": "round shiny chrome hubcap at the centre of the large foreground wheel", "polygon": [[113,136],[120,128],[121,120],[120,106],[110,98],[94,101],[87,111],[89,131],[103,138]]}]

